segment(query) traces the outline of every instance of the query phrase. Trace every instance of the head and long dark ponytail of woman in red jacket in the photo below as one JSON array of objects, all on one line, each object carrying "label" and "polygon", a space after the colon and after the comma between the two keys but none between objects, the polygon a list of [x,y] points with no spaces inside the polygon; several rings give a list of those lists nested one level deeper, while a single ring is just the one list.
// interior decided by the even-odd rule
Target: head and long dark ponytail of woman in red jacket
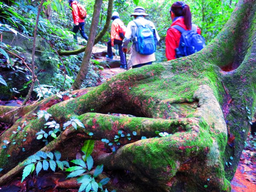
[{"label": "head and long dark ponytail of woman in red jacket", "polygon": [[177,17],[183,16],[186,28],[191,30],[192,23],[191,23],[191,12],[190,12],[189,5],[187,5],[183,1],[176,1],[175,3],[172,4],[170,11],[172,11],[174,15]]}]

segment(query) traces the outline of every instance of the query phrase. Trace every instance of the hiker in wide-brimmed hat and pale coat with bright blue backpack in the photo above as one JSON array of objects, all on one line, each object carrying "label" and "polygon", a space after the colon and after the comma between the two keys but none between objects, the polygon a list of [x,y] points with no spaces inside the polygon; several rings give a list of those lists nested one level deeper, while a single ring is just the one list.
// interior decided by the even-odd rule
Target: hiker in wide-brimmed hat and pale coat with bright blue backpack
[{"label": "hiker in wide-brimmed hat and pale coat with bright blue backpack", "polygon": [[[128,69],[152,64],[152,61],[156,60],[154,52],[160,37],[157,34],[154,23],[144,18],[147,15],[143,7],[136,7],[134,13],[131,14],[131,17],[134,16],[134,20],[128,23],[123,42],[123,51],[125,53],[127,52],[129,42],[133,42],[130,58],[127,62]],[[140,46],[143,41],[140,34],[143,34],[142,31],[144,29],[147,30],[146,33],[151,33],[153,37],[150,35],[151,38],[148,40],[149,43],[146,43],[146,46]]]}]

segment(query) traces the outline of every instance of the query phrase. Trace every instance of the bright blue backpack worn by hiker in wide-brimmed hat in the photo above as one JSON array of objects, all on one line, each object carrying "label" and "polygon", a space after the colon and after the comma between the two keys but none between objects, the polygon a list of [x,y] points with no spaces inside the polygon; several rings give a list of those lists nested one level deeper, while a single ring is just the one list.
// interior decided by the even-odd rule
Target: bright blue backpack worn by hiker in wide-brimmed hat
[{"label": "bright blue backpack worn by hiker in wide-brimmed hat", "polygon": [[157,38],[153,29],[149,24],[141,25],[139,22],[133,21],[138,27],[135,33],[135,40],[133,41],[135,50],[141,55],[153,54],[157,49]]}]

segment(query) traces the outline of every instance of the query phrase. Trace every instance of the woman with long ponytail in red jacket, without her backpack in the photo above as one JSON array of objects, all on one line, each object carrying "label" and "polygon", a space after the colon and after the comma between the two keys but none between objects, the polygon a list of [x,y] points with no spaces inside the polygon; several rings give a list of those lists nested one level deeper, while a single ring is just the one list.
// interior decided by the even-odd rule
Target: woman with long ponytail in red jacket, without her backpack
[{"label": "woman with long ponytail in red jacket, without her backpack", "polygon": [[[183,30],[191,30],[194,27],[194,30],[201,36],[201,29],[199,29],[198,26],[192,26],[189,5],[187,5],[183,1],[177,1],[172,4],[169,12],[172,19],[172,25],[167,30],[166,34],[166,58],[168,61],[180,57],[176,55],[176,52],[180,54],[179,44],[181,32],[178,29],[175,29],[175,27],[180,26]],[[204,41],[204,39],[202,41]]]}]

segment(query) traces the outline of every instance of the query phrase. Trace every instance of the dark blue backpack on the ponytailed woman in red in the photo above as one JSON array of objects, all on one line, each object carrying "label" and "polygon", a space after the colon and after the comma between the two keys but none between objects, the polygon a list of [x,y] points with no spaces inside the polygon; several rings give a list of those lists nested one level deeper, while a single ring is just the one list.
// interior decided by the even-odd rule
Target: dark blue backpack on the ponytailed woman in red
[{"label": "dark blue backpack on the ponytailed woman in red", "polygon": [[192,55],[205,47],[205,40],[197,33],[197,27],[195,25],[192,25],[191,30],[185,30],[178,25],[171,27],[181,32],[179,47],[175,49],[176,58]]}]

